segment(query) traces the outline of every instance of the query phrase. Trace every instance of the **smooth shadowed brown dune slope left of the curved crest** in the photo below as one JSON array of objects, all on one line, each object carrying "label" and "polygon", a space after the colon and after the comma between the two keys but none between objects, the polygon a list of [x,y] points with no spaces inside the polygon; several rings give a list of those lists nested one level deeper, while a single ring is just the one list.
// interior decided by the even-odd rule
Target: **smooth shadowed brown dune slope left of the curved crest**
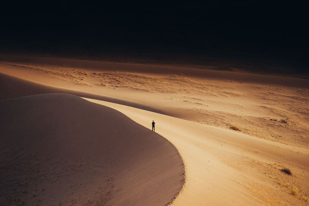
[{"label": "smooth shadowed brown dune slope left of the curved crest", "polygon": [[164,205],[184,166],[165,138],[74,95],[0,101],[0,204]]}]

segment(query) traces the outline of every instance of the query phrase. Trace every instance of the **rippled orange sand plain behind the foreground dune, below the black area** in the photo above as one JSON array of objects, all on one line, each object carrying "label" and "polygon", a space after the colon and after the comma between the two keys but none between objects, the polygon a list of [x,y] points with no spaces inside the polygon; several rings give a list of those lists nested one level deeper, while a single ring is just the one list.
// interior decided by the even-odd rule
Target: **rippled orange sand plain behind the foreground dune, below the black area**
[{"label": "rippled orange sand plain behind the foreground dune, below the black area", "polygon": [[[308,79],[97,61],[1,58],[0,72],[31,84],[53,86],[53,90],[57,87],[60,93],[220,128],[236,126],[249,135],[309,148]],[[6,86],[3,90],[12,89]]]}]

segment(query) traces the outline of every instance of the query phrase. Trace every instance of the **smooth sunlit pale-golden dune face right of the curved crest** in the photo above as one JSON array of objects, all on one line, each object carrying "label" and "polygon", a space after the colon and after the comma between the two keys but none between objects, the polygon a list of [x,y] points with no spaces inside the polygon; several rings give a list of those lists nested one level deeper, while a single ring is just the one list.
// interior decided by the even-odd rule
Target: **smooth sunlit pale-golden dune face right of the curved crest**
[{"label": "smooth sunlit pale-golden dune face right of the curved crest", "polygon": [[278,190],[276,181],[290,178],[280,170],[281,166],[288,165],[297,172],[295,175],[300,181],[306,182],[308,149],[115,103],[87,100],[121,111],[145,127],[150,127],[152,119],[156,121],[156,132],[175,145],[186,166],[186,182],[173,205],[292,204],[298,201],[286,195],[289,187]]}]

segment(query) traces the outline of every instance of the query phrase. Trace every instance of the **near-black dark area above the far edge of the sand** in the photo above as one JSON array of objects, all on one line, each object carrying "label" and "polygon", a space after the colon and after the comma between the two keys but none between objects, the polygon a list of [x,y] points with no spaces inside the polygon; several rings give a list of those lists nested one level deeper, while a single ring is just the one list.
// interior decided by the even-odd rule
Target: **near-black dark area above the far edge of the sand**
[{"label": "near-black dark area above the far edge of the sand", "polygon": [[6,3],[1,53],[306,76],[305,8],[264,1]]}]

